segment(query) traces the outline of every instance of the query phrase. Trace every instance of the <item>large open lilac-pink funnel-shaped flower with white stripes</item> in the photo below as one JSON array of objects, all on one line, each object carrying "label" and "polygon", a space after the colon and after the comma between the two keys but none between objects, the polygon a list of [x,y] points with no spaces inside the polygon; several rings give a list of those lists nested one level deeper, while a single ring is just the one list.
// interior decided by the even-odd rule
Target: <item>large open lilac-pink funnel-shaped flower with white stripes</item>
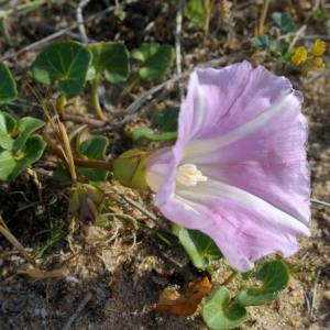
[{"label": "large open lilac-pink funnel-shaped flower with white stripes", "polygon": [[309,235],[301,102],[288,79],[262,66],[196,69],[176,144],[146,160],[165,217],[212,238],[240,272],[273,252],[294,254]]}]

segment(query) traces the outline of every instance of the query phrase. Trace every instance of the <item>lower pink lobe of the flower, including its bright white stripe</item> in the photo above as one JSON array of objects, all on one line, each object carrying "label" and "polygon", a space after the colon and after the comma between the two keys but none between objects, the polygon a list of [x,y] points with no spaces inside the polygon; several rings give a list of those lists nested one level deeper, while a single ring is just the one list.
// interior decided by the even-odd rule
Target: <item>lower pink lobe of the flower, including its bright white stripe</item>
[{"label": "lower pink lobe of the flower, including its bright white stripe", "polygon": [[211,237],[230,265],[249,271],[264,255],[298,250],[297,235],[308,235],[307,226],[262,199],[221,183],[200,184],[180,190],[162,207],[166,217]]}]

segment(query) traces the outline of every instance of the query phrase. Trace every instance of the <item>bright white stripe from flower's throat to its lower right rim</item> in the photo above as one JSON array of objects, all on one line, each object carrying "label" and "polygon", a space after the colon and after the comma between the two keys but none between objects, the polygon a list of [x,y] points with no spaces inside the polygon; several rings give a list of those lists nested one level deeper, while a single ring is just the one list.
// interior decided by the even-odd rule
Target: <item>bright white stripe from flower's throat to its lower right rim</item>
[{"label": "bright white stripe from flower's throat to its lower right rim", "polygon": [[176,195],[205,206],[217,198],[232,200],[263,216],[263,220],[273,227],[286,228],[288,232],[294,230],[309,237],[308,227],[298,219],[253,194],[222,182],[209,178],[206,183],[199,183],[195,189],[177,189]]}]

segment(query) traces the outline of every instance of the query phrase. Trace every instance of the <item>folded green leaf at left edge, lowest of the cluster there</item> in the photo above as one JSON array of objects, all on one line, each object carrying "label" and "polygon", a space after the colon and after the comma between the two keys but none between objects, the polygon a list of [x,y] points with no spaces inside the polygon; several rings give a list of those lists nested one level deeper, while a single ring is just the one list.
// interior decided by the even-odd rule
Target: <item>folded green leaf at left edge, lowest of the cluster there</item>
[{"label": "folded green leaf at left edge, lowest of the cluster there", "polygon": [[10,151],[0,153],[0,180],[10,182],[41,158],[46,143],[38,135],[29,138],[19,156]]}]

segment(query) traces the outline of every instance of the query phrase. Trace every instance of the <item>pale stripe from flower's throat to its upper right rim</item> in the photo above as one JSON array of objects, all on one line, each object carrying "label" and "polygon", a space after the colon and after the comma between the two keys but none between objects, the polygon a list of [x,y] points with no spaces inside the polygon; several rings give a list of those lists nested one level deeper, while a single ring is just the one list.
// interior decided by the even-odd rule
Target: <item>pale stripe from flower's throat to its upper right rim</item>
[{"label": "pale stripe from flower's throat to its upper right rim", "polygon": [[210,154],[223,146],[227,146],[233,142],[244,139],[251,133],[254,133],[261,128],[263,128],[274,116],[280,112],[287,105],[295,101],[299,102],[297,97],[294,96],[293,92],[290,92],[283,97],[279,101],[275,102],[267,110],[263,111],[256,118],[248,121],[246,123],[228,132],[224,135],[220,135],[216,139],[189,142],[185,150],[185,160],[189,160],[191,157],[199,157],[205,154]]}]

